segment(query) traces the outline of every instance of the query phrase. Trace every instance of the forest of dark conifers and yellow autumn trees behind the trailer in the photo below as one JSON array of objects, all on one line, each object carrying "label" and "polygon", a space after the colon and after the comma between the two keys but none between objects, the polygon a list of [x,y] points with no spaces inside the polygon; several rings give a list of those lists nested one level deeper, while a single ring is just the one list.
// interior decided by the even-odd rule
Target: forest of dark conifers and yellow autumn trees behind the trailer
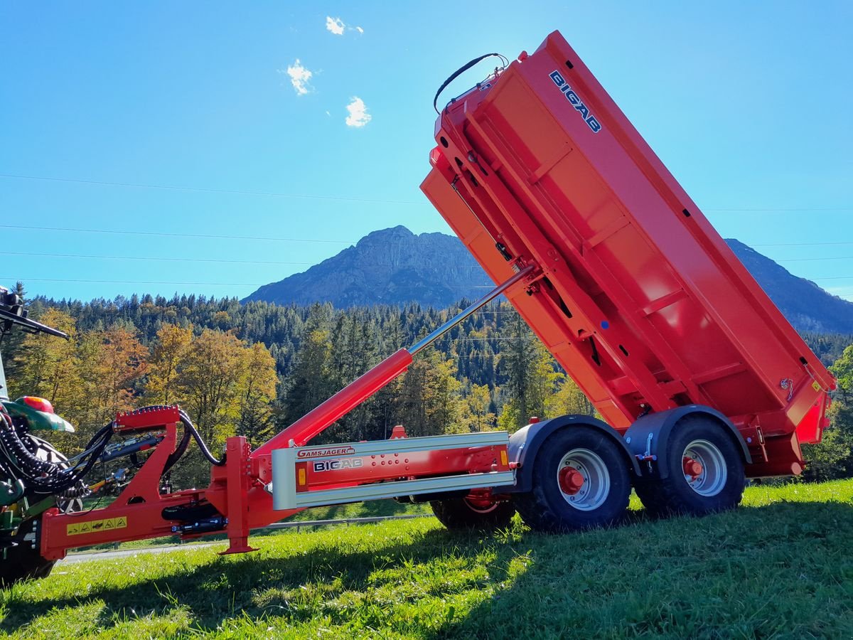
[{"label": "forest of dark conifers and yellow autumn trees behind the trailer", "polygon": [[[26,291],[19,284],[19,294]],[[234,298],[133,295],[114,300],[28,300],[31,317],[71,340],[13,332],[3,339],[10,395],[49,399],[78,433],[73,452],[118,410],[178,403],[214,450],[240,433],[259,445],[397,349],[427,335],[449,309],[375,305],[241,304]],[[853,336],[804,334],[838,377],[833,425],[808,447],[811,479],[853,475]],[[523,426],[531,416],[593,414],[507,302],[494,302],[421,352],[415,364],[317,442]],[[204,484],[189,456],[180,479]]]}]

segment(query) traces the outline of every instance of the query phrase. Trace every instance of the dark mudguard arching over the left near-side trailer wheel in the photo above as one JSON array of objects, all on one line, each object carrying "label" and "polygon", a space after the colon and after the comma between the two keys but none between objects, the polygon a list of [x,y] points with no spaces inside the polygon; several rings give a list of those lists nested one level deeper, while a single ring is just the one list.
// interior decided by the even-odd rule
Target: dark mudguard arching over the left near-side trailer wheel
[{"label": "dark mudguard arching over the left near-side trailer wheel", "polygon": [[598,429],[618,443],[624,451],[625,459],[630,461],[634,474],[640,475],[640,465],[616,429],[591,416],[560,416],[529,424],[509,437],[509,460],[519,466],[515,474],[515,486],[506,489],[502,487],[501,492],[523,493],[531,491],[533,464],[536,462],[537,452],[548,439],[548,436],[563,428],[582,426]]}]

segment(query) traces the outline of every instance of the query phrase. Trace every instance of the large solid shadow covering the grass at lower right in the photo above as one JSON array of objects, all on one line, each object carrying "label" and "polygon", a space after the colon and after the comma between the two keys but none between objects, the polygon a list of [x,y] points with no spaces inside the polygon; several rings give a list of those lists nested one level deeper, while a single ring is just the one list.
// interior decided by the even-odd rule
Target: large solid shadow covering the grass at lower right
[{"label": "large solid shadow covering the grass at lower right", "polygon": [[[850,637],[853,503],[528,533],[525,569],[428,637]],[[550,541],[550,542],[549,542]]]}]

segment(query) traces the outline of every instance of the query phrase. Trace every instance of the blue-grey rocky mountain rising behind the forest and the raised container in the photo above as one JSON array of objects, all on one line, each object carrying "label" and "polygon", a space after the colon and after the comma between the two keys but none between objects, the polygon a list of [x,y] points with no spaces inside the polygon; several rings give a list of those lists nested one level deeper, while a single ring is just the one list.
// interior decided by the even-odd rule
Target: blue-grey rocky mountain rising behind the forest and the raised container
[{"label": "blue-grey rocky mountain rising behind the forest and the raised container", "polygon": [[[853,302],[793,276],[740,241],[727,242],[794,327],[853,333]],[[444,307],[461,298],[479,297],[483,285],[490,285],[489,279],[458,238],[443,233],[415,236],[397,226],[374,231],[354,247],[308,271],[266,284],[243,301],[310,305],[322,300],[336,307],[416,301]]]}]

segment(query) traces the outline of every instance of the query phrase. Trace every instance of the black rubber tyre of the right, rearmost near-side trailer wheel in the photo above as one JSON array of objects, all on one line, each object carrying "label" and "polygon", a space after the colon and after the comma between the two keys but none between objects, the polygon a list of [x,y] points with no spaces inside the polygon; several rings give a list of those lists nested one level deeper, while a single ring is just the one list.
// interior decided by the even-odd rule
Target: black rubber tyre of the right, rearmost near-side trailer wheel
[{"label": "black rubber tyre of the right, rearmost near-side trailer wheel", "polygon": [[[711,468],[718,467],[719,480],[703,479],[703,484],[699,478],[688,480],[683,471],[683,460],[688,445],[696,442],[710,445],[702,445],[707,450],[706,462]],[[713,449],[718,451],[722,460],[716,457]],[[669,476],[665,479],[641,478],[634,487],[643,506],[652,515],[705,515],[734,509],[740,503],[746,485],[742,453],[719,422],[703,416],[685,418],[673,429],[663,456],[661,462],[670,469]],[[709,472],[705,469],[703,473]]]}]

